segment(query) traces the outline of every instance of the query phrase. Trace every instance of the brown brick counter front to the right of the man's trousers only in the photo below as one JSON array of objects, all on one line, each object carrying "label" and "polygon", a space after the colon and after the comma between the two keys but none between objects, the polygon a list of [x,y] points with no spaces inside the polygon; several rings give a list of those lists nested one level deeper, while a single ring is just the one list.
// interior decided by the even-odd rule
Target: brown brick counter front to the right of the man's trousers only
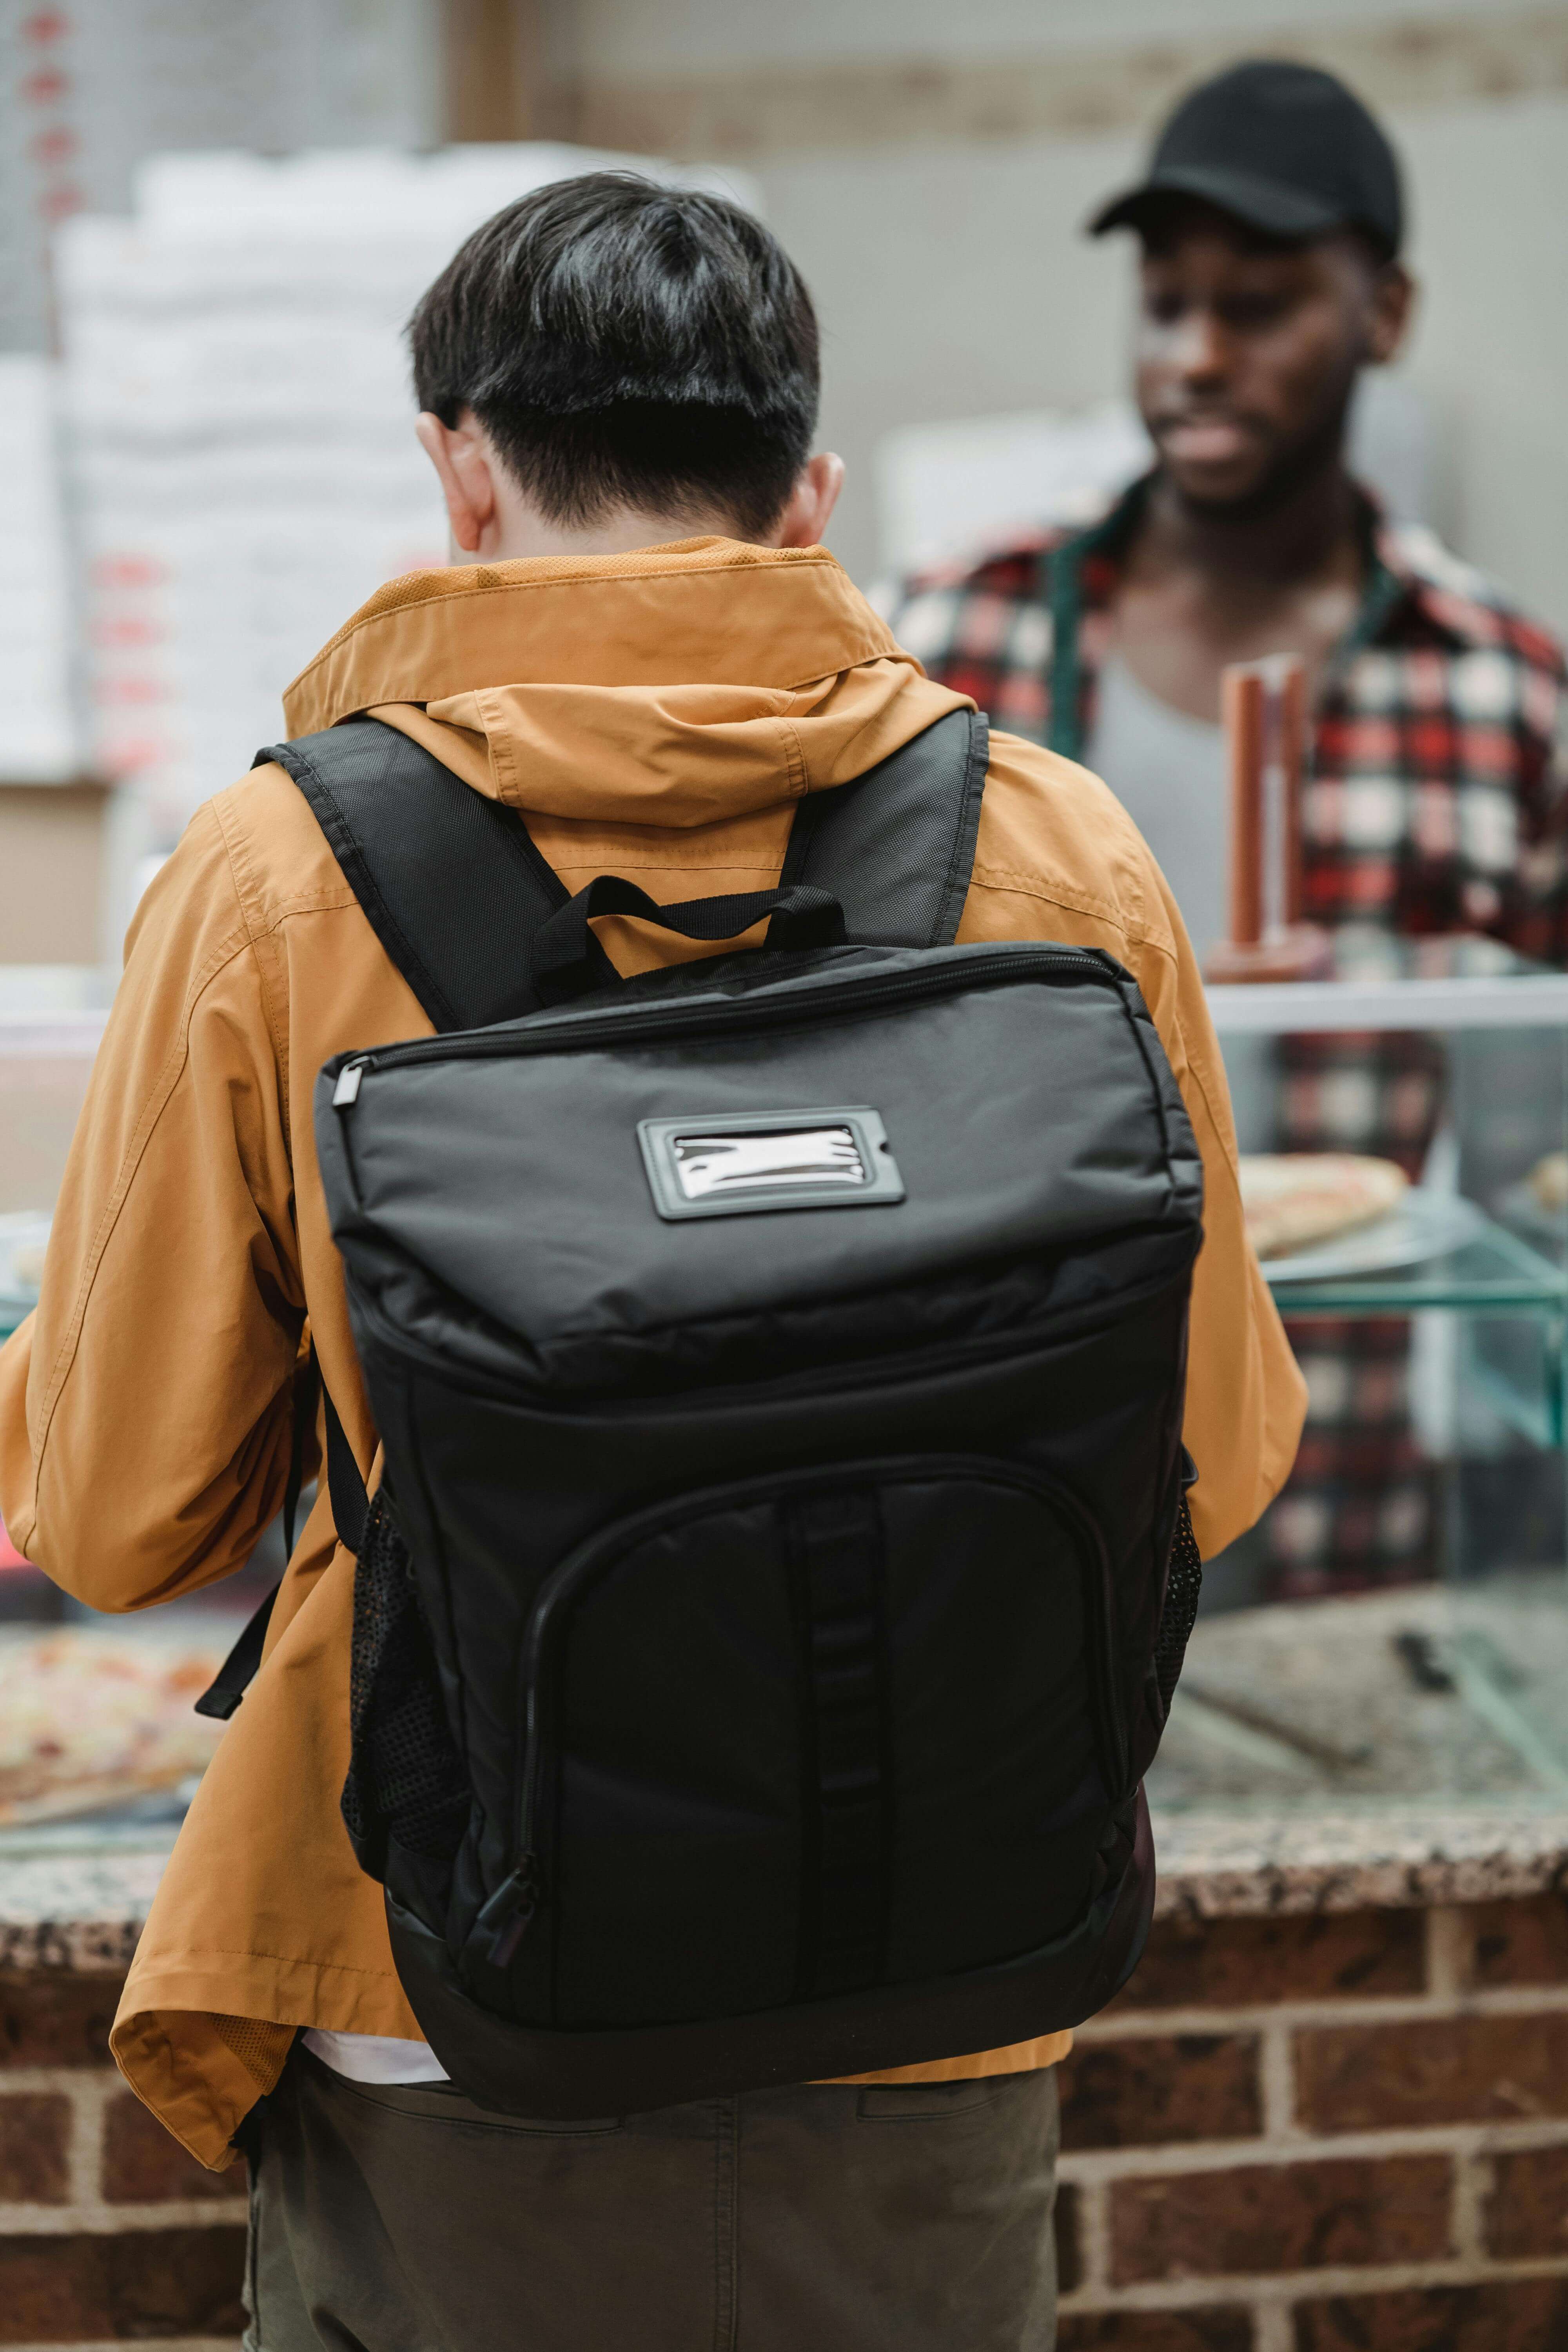
[{"label": "brown brick counter front to the right of the man's trousers only", "polygon": [[1568,2352],[1568,1903],[1161,1922],[1063,2150],[1060,2352]]}]

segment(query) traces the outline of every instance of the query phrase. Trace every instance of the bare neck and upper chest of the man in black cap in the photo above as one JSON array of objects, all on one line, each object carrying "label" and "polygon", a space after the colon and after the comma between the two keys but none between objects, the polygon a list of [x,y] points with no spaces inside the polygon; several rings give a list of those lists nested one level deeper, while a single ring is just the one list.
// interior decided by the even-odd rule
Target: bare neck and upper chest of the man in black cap
[{"label": "bare neck and upper chest of the man in black cap", "polygon": [[1356,487],[1335,452],[1267,506],[1194,506],[1157,473],[1135,536],[1147,574],[1204,574],[1232,595],[1281,595],[1359,569]]}]

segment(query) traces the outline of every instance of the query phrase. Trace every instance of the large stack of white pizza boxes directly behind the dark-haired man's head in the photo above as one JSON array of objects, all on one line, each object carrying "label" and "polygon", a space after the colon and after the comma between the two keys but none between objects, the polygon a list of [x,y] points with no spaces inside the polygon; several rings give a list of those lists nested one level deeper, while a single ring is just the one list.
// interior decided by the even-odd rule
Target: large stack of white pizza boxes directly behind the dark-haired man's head
[{"label": "large stack of white pizza boxes directly behind the dark-haired man's head", "polygon": [[[447,560],[404,325],[562,146],[165,155],[59,240],[92,755],[143,851],[282,731],[280,691],[381,581]],[[745,198],[745,188],[724,183]]]}]

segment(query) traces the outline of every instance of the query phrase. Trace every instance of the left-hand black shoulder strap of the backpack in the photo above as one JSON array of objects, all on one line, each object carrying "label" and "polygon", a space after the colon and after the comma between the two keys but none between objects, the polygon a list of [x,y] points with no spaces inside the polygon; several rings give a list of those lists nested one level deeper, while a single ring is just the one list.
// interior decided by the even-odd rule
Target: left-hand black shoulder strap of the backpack
[{"label": "left-hand black shoulder strap of the backpack", "polygon": [[[536,1011],[534,934],[567,889],[501,802],[381,720],[268,743],[310,802],[343,880],[437,1030]],[[592,934],[590,934],[592,938]],[[602,981],[614,981],[604,950]]]}]

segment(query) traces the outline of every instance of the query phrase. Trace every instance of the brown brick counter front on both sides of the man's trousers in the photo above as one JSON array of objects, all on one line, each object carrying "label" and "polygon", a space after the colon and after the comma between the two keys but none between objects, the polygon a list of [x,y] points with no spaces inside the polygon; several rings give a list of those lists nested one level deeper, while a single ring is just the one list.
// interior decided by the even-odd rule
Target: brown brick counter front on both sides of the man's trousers
[{"label": "brown brick counter front on both sides of the man's trousers", "polygon": [[[242,2176],[115,1992],[0,1976],[0,2345],[233,2352]],[[1568,2352],[1568,1900],[1161,1922],[1063,2070],[1060,2253],[1060,2352]]]}]

